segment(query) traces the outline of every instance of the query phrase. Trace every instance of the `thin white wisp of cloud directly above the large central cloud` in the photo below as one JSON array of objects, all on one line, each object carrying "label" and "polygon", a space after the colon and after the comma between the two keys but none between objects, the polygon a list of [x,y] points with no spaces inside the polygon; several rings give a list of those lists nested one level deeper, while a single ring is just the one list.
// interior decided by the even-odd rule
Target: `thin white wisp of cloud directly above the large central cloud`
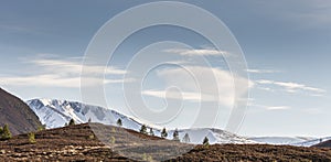
[{"label": "thin white wisp of cloud directly above the large central cloud", "polygon": [[217,51],[217,50],[211,50],[211,48],[203,48],[203,50],[190,50],[190,48],[170,48],[164,50],[164,52],[179,54],[183,56],[223,56],[225,54],[228,54],[225,51]]}]

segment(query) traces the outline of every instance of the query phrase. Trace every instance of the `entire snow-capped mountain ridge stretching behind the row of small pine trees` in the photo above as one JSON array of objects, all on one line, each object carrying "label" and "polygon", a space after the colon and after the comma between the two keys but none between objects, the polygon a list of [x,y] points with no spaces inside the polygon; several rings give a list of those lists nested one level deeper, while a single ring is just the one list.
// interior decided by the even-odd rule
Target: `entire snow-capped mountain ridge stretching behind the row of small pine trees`
[{"label": "entire snow-capped mountain ridge stretching behind the row of small pine trees", "polygon": [[[77,123],[100,122],[104,125],[116,125],[120,118],[122,127],[139,131],[142,123],[131,117],[121,115],[115,110],[106,109],[98,106],[85,105],[76,101],[56,100],[56,99],[33,99],[26,101],[30,108],[36,114],[41,122],[50,128],[63,127],[71,119]],[[149,131],[149,128],[148,128]],[[153,128],[153,133],[160,137],[161,130]],[[226,132],[220,129],[182,129],[179,130],[180,140],[183,139],[185,133],[189,134],[190,143],[202,143],[205,137],[209,138],[210,143],[254,143],[252,140]],[[168,139],[172,139],[173,130],[168,131]]]}]

